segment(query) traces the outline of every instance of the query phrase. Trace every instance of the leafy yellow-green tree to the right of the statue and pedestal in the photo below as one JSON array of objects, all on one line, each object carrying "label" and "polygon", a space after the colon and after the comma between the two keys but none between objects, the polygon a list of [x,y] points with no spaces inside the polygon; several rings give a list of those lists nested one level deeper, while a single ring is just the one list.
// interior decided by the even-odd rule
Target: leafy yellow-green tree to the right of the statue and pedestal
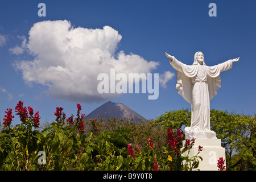
[{"label": "leafy yellow-green tree to the right of the statue and pedestal", "polygon": [[221,138],[226,150],[226,165],[229,170],[256,169],[255,116],[210,111],[211,128]]}]

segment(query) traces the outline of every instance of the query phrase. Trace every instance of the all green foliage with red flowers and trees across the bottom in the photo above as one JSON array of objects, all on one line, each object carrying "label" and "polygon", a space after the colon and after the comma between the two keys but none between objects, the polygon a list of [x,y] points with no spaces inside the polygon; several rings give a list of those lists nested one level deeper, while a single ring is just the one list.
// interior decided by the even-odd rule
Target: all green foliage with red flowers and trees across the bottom
[{"label": "all green foliage with red flowers and trees across the bottom", "polygon": [[[184,126],[190,123],[188,110],[139,122],[101,117],[85,121],[80,111],[77,104],[76,116],[67,118],[64,109],[56,107],[55,121],[40,125],[39,111],[19,101],[15,113],[20,123],[13,126],[13,110],[7,109],[0,133],[0,169],[195,170],[203,160],[203,146],[196,156],[188,156],[195,139],[185,140],[184,146],[181,142]],[[226,168],[219,159],[220,170],[255,169],[255,117],[211,110],[211,121],[226,148]]]}]

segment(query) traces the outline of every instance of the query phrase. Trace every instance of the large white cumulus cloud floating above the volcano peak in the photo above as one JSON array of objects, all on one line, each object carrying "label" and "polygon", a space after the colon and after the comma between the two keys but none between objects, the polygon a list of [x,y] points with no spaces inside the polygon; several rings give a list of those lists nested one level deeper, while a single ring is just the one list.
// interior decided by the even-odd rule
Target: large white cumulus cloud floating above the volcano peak
[{"label": "large white cumulus cloud floating above the volcano peak", "polygon": [[47,85],[55,98],[90,102],[118,97],[97,92],[98,74],[109,75],[112,68],[117,73],[150,73],[159,65],[133,53],[115,53],[122,36],[109,26],[88,29],[67,20],[43,21],[28,35],[26,48],[35,59],[16,61],[14,67],[27,84]]}]

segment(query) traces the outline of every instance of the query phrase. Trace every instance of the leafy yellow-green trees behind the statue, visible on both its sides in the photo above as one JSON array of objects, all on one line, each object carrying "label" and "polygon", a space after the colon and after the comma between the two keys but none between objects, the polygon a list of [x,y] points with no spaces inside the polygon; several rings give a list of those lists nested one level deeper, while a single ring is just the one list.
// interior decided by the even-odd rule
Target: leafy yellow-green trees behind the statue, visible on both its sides
[{"label": "leafy yellow-green trees behind the statue, visible on both its sides", "polygon": [[[172,110],[160,115],[154,121],[164,128],[171,127],[184,130],[191,123],[191,112]],[[222,110],[210,110],[211,130],[221,139],[226,150],[226,166],[228,170],[256,169],[255,116],[228,113]]]}]

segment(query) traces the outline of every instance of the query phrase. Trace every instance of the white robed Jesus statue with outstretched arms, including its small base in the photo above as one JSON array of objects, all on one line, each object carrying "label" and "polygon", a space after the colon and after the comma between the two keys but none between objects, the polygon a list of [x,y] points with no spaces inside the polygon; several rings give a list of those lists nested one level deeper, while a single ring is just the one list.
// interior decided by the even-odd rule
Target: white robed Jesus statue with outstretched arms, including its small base
[{"label": "white robed Jesus statue with outstretched arms, including its small base", "polygon": [[240,59],[208,67],[202,52],[196,52],[193,65],[186,65],[168,55],[170,64],[176,69],[176,89],[191,104],[191,127],[185,127],[185,138],[216,138],[210,131],[210,100],[221,87],[220,72],[232,68]]}]

